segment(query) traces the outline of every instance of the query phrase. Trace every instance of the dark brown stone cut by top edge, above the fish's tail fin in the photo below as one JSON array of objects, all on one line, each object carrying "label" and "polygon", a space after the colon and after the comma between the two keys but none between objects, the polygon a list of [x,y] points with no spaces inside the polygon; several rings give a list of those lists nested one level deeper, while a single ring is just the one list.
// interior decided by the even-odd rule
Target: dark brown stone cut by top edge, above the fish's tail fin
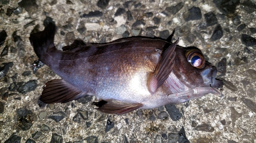
[{"label": "dark brown stone cut by top edge, above the fish's tail fin", "polygon": [[31,15],[36,13],[38,9],[36,0],[22,0],[22,2],[19,2],[18,5],[24,8]]}]

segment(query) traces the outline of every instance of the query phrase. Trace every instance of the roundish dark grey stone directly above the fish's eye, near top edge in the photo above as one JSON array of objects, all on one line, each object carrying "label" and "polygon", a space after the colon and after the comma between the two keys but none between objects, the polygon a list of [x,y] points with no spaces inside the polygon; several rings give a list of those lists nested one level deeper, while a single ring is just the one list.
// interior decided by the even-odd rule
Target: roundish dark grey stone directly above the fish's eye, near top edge
[{"label": "roundish dark grey stone directly above the fish's eye, near top edge", "polygon": [[192,7],[191,9],[183,13],[183,18],[185,21],[200,20],[202,18],[200,8]]}]

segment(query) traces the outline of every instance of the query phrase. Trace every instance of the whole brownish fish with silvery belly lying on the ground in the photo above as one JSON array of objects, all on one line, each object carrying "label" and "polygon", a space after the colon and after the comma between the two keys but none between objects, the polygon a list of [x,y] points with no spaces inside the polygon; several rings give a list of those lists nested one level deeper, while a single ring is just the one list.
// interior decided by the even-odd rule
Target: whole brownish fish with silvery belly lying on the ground
[{"label": "whole brownish fish with silvery belly lying on the ground", "polygon": [[31,33],[30,43],[39,60],[61,77],[48,81],[39,100],[66,103],[83,96],[103,113],[122,115],[200,98],[222,96],[217,69],[196,47],[181,47],[160,38],[129,37],[109,43],[76,39],[58,50],[56,25]]}]

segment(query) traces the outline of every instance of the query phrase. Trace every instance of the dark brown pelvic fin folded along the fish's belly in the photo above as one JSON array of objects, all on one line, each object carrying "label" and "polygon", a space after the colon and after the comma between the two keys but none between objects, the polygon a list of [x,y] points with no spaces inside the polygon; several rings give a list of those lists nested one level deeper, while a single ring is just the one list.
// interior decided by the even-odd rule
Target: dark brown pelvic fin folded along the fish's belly
[{"label": "dark brown pelvic fin folded along the fish's belly", "polygon": [[99,102],[93,102],[93,104],[96,105],[98,107],[96,109],[101,112],[117,115],[136,110],[143,106],[141,103],[126,103],[118,100],[101,100]]}]

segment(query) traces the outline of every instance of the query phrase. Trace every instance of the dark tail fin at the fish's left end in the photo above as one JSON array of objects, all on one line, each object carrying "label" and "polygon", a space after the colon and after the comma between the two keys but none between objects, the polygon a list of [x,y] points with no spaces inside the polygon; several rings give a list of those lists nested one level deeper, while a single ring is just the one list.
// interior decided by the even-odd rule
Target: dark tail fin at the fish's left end
[{"label": "dark tail fin at the fish's left end", "polygon": [[[31,45],[34,47],[34,51],[38,56],[39,60],[44,62],[44,56],[48,48],[55,48],[54,46],[54,35],[56,26],[53,23],[49,23],[45,30],[42,32],[30,34],[29,40]],[[45,63],[46,64],[46,63]]]}]

